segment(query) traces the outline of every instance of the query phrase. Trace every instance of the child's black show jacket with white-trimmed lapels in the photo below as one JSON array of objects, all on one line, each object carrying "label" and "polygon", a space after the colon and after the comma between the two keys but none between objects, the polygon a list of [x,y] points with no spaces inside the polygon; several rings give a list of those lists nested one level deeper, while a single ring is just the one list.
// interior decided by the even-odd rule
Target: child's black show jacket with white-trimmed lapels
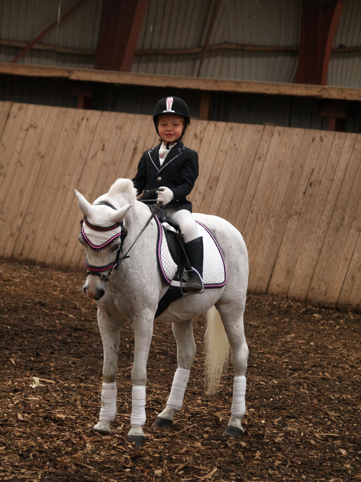
[{"label": "child's black show jacket with white-trimmed lapels", "polygon": [[[159,148],[153,147],[143,153],[138,172],[132,179],[138,194],[156,187],[166,186],[173,192],[173,199],[167,207],[179,211],[187,209],[192,213],[192,203],[186,196],[193,189],[198,177],[198,154],[182,142],[173,146],[162,166],[159,163]],[[156,200],[155,195],[155,200]]]}]

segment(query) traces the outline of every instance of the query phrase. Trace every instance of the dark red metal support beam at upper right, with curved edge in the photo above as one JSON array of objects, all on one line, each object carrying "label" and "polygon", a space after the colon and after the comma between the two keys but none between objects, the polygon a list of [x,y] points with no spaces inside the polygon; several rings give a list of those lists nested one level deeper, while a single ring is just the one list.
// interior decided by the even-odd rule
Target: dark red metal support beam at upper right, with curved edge
[{"label": "dark red metal support beam at upper right, with curved edge", "polygon": [[345,0],[303,0],[296,83],[327,84],[328,64]]}]

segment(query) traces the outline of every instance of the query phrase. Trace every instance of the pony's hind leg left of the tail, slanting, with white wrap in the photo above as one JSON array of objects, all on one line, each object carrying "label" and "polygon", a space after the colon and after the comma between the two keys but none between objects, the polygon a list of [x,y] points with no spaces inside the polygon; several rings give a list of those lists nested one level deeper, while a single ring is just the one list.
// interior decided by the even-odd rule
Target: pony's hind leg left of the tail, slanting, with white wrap
[{"label": "pony's hind leg left of the tail, slanting, with white wrap", "polygon": [[172,328],[177,342],[178,368],[174,374],[167,406],[156,417],[153,427],[170,427],[173,424],[173,415],[181,409],[189,373],[194,361],[193,320],[172,323]]}]

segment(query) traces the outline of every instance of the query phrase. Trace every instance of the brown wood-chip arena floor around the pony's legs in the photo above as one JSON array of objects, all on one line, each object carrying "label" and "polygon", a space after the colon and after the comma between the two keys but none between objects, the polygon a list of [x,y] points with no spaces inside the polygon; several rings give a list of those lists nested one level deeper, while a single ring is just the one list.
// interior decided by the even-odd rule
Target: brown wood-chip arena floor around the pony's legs
[{"label": "brown wood-chip arena floor around the pony's legs", "polygon": [[[148,362],[146,443],[129,430],[133,341],[121,342],[118,415],[94,435],[102,344],[83,276],[0,262],[0,480],[361,481],[361,315],[272,296],[248,297],[245,436],[221,437],[232,368],[203,391],[204,318],[183,409],[151,428],[176,369],[171,326],[155,323]],[[33,376],[41,386],[31,388]]]}]

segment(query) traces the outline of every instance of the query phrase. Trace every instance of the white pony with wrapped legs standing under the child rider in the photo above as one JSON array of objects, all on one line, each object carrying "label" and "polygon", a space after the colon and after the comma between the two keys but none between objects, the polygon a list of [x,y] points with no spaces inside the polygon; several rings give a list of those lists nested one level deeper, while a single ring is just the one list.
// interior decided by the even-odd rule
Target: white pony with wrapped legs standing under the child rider
[{"label": "white pony with wrapped legs standing under the child rider", "polygon": [[[94,430],[107,435],[111,433],[109,425],[116,417],[120,331],[125,322],[129,321],[134,332],[134,363],[131,370],[131,428],[127,440],[142,446],[148,352],[155,312],[168,285],[157,266],[155,219],[147,225],[151,212],[142,202],[136,201],[135,193],[132,181],[117,179],[109,192],[91,205],[76,190],[77,201],[84,214],[79,236],[88,269],[84,292],[96,300],[98,305],[98,324],[104,352],[102,406]],[[212,392],[217,387],[231,348],[235,374],[233,399],[231,418],[223,435],[240,437],[244,433],[241,421],[245,415],[245,372],[248,358],[243,326],[248,281],[247,250],[239,231],[224,219],[206,214],[194,214],[194,217],[210,229],[219,244],[226,264],[227,282],[221,288],[210,288],[202,294],[183,296],[156,318],[156,321],[172,323],[177,342],[178,368],[167,405],[153,426],[170,427],[174,413],[181,409],[195,355],[192,321],[194,317],[207,312],[207,388]],[[127,256],[127,259],[121,260],[119,269],[114,270],[119,255],[122,256],[120,246],[123,242],[123,255],[131,248],[129,258]]]}]

